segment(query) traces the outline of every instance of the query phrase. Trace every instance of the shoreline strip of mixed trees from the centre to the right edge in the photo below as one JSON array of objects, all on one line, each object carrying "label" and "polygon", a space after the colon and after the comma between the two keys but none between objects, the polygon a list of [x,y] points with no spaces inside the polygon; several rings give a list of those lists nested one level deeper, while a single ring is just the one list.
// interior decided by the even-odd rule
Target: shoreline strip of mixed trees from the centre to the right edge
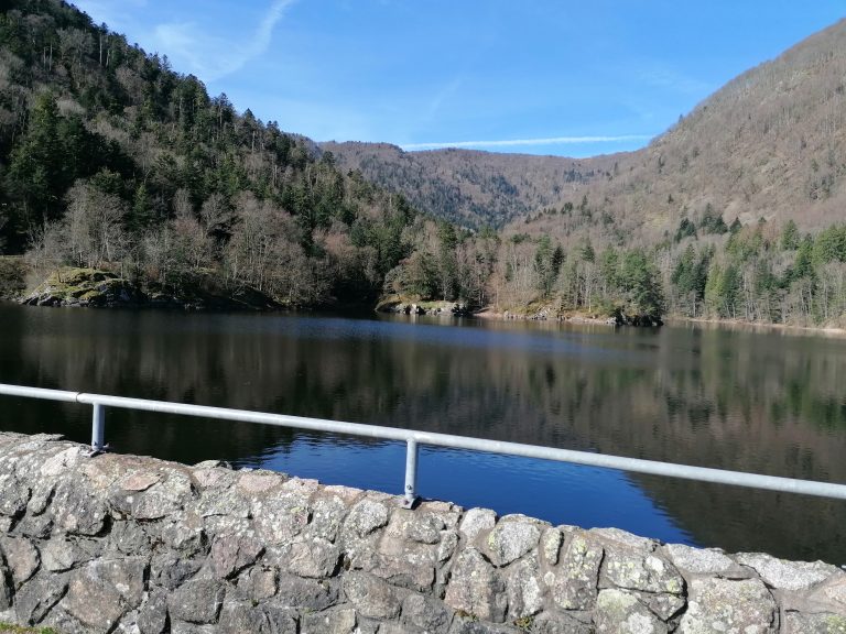
[{"label": "shoreline strip of mixed trees from the centre to the right edge", "polygon": [[709,207],[651,247],[567,247],[549,236],[429,226],[386,291],[499,310],[675,315],[846,326],[846,223],[815,234],[795,221],[726,223]]}]

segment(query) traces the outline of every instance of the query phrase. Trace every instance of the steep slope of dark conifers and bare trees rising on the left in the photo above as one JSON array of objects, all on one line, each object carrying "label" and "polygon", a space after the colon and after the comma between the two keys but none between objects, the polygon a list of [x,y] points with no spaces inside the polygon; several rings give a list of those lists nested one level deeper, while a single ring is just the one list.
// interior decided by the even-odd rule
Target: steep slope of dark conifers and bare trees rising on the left
[{"label": "steep slope of dark conifers and bare trees rising on the left", "polygon": [[59,0],[0,13],[0,238],[41,272],[372,300],[416,212]]}]

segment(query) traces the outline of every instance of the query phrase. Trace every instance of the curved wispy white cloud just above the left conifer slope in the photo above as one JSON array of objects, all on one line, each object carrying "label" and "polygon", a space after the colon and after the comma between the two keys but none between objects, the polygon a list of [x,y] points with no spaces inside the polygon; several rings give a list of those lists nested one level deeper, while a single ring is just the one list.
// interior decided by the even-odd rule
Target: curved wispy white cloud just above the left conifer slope
[{"label": "curved wispy white cloud just above the left conifer slope", "polygon": [[216,81],[261,56],[273,40],[273,29],[296,0],[274,0],[246,42],[208,34],[194,22],[159,24],[153,39],[161,51],[206,81]]}]

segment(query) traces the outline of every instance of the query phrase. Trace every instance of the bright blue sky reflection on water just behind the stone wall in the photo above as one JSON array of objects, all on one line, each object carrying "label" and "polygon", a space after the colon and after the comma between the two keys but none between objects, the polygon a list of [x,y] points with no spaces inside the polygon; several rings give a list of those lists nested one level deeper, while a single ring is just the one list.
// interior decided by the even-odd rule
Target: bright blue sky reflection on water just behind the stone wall
[{"label": "bright blue sky reflection on water just behind the stone wall", "polygon": [[[246,463],[326,484],[400,494],[405,446],[297,433],[283,450],[268,450]],[[695,544],[620,471],[438,447],[421,447],[417,469],[417,491],[424,498],[494,509],[500,515],[522,513],[553,525],[615,526]]]}]

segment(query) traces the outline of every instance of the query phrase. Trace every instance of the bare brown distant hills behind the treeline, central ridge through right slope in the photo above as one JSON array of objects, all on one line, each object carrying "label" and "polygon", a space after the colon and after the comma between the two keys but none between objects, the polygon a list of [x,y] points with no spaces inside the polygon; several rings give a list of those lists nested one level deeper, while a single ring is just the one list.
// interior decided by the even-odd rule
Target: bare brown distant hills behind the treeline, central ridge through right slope
[{"label": "bare brown distant hills behind the treeline, central ridge through right slope", "polygon": [[[731,80],[637,152],[572,160],[322,146],[421,209],[470,226],[517,220],[530,233],[641,242],[707,211],[726,223],[792,218],[815,229],[839,220],[846,203],[845,80],[840,21]],[[562,221],[562,207],[585,197],[589,220]]]}]

